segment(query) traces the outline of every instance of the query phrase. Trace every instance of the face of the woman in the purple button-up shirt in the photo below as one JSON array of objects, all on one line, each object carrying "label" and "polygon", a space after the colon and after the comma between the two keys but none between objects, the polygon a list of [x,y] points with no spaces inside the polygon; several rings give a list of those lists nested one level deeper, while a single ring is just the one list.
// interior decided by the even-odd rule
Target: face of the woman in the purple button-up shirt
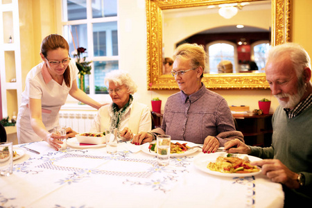
[{"label": "face of the woman in the purple button-up shirt", "polygon": [[[184,60],[182,58],[176,58],[173,62],[172,71],[185,71],[191,69],[191,60]],[[190,95],[197,92],[200,87],[200,75],[202,73],[202,68],[197,67],[196,69],[185,72],[183,75],[177,73],[175,76],[175,81],[185,94]]]}]

